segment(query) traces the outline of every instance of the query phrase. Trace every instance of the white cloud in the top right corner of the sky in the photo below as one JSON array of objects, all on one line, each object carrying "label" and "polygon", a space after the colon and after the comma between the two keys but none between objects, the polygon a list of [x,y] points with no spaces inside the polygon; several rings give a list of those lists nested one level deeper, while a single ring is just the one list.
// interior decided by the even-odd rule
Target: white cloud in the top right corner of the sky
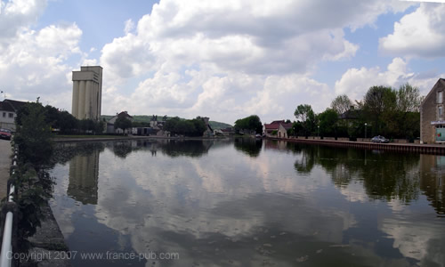
[{"label": "white cloud in the top right corner of the sky", "polygon": [[445,56],[445,4],[420,4],[394,23],[392,34],[380,38],[385,53],[437,58]]}]

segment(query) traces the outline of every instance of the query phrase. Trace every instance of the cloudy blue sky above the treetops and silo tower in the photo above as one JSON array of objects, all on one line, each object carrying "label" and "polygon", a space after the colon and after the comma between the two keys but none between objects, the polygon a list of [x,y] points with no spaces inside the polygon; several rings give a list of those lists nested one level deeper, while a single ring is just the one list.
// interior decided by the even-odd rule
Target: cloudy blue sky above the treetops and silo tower
[{"label": "cloudy blue sky above the treetops and silo tower", "polygon": [[[439,1],[443,2],[443,1]],[[294,120],[339,94],[445,78],[445,4],[396,0],[0,0],[0,96],[71,111],[103,68],[102,115]]]}]

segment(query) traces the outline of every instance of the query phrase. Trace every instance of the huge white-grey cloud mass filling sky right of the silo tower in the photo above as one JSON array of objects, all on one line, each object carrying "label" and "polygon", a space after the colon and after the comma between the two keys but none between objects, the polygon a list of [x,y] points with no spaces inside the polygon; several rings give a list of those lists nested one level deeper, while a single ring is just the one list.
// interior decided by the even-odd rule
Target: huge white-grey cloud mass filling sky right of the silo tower
[{"label": "huge white-grey cloud mass filling sky right of the silo tower", "polygon": [[[300,103],[322,111],[332,92],[310,75],[320,61],[347,60],[358,51],[344,28],[372,25],[408,5],[161,0],[136,30],[127,20],[125,36],[103,47],[104,92],[114,94],[103,97],[102,107],[226,122],[252,113],[291,118]],[[134,80],[133,92],[121,89]]]}]

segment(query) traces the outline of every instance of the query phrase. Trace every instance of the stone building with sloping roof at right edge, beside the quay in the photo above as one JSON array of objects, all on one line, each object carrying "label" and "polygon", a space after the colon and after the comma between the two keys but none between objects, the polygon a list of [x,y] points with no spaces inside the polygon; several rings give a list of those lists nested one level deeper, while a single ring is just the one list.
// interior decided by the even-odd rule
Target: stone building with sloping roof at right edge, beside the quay
[{"label": "stone building with sloping roof at right edge, beside the quay", "polygon": [[420,143],[445,142],[444,92],[445,80],[440,78],[420,105]]}]

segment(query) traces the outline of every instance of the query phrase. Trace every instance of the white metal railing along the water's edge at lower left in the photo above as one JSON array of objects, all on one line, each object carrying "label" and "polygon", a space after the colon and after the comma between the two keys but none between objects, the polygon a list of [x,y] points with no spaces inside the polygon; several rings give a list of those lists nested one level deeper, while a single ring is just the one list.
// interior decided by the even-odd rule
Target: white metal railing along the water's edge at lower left
[{"label": "white metal railing along the water's edge at lower left", "polygon": [[[14,149],[14,155],[12,157],[11,176],[15,174],[17,160],[18,160],[18,150]],[[15,194],[15,187],[12,180],[10,179],[8,182],[7,203],[4,206],[4,211],[2,211],[3,213],[4,212],[7,213],[4,219],[2,251],[0,254],[0,267],[10,267],[12,265],[12,231],[13,231],[14,212],[12,208],[13,205],[11,204],[14,203],[14,194]]]}]

